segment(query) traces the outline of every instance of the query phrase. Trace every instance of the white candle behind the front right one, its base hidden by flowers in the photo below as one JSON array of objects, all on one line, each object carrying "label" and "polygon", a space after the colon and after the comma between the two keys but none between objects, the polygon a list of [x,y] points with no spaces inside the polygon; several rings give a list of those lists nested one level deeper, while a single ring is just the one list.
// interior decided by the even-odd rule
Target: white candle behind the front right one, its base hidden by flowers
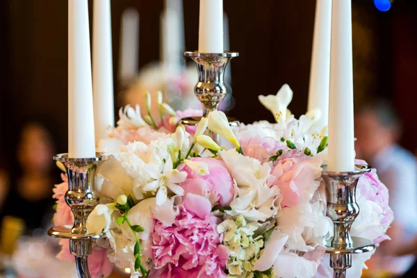
[{"label": "white candle behind the front right one, its base hidden by flowers", "polygon": [[332,0],[316,1],[313,52],[311,55],[308,111],[319,109],[317,126],[329,124],[330,40],[332,33]]}]

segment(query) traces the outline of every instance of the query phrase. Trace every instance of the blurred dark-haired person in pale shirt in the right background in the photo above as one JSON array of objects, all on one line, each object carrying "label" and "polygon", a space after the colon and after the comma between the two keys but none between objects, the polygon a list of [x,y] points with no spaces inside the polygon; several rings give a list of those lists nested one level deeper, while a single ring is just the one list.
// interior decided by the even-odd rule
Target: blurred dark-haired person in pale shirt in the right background
[{"label": "blurred dark-haired person in pale shirt in the right background", "polygon": [[379,179],[389,189],[389,205],[394,213],[387,233],[391,240],[382,243],[368,261],[367,273],[369,277],[399,277],[416,261],[413,255],[398,253],[400,245],[417,236],[416,159],[398,145],[401,124],[388,103],[373,101],[359,108],[354,120],[357,158],[377,169]]}]

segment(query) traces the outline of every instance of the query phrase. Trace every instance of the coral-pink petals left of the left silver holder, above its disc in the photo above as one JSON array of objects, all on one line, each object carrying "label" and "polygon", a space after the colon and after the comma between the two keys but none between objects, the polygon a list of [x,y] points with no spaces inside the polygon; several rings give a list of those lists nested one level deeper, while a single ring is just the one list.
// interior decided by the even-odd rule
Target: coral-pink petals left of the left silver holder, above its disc
[{"label": "coral-pink petals left of the left silver holder, above its disc", "polygon": [[65,174],[61,174],[63,183],[56,184],[53,189],[56,199],[56,212],[54,214],[54,224],[56,226],[65,226],[74,223],[74,215],[72,214],[70,206],[65,202],[65,193],[68,190],[68,180]]}]

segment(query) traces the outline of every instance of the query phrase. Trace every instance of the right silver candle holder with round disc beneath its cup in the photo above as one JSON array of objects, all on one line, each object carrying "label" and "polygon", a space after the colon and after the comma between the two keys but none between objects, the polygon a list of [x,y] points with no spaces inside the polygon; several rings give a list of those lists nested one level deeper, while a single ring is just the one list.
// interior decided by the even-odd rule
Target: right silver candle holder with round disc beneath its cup
[{"label": "right silver candle holder with round disc beneath its cup", "polygon": [[370,170],[368,165],[356,165],[352,172],[328,172],[326,169],[322,172],[322,178],[326,183],[327,216],[334,224],[334,237],[326,245],[334,278],[346,277],[347,268],[352,266],[352,254],[375,249],[371,240],[350,235],[350,228],[359,215],[356,202],[357,183],[359,177]]}]

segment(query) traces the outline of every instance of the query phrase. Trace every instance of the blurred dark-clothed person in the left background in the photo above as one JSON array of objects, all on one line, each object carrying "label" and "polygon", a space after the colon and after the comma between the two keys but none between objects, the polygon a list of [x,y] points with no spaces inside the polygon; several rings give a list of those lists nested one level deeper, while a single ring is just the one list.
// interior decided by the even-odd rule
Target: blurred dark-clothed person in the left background
[{"label": "blurred dark-clothed person in the left background", "polygon": [[20,130],[17,162],[10,171],[8,194],[0,210],[0,221],[5,216],[22,219],[27,234],[51,226],[53,216],[52,188],[59,172],[52,160],[54,136],[47,126],[46,122],[32,120]]}]

